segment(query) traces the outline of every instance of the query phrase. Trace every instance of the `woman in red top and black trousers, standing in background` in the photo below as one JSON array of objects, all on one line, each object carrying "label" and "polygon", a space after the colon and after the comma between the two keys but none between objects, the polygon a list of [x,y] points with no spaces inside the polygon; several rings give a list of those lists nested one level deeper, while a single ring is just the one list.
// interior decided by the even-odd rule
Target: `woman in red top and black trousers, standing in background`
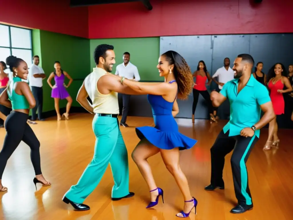
[{"label": "woman in red top and black trousers, standing in background", "polygon": [[205,62],[203,60],[200,60],[200,62],[198,62],[197,70],[193,73],[192,76],[195,77],[196,80],[193,86],[192,123],[194,123],[194,113],[198,102],[198,96],[200,94],[207,102],[210,120],[217,122],[213,114],[214,108],[209,98],[209,92],[207,91],[207,87],[205,85],[207,80],[208,85],[212,82],[212,77],[209,75],[209,72],[207,72],[207,67],[205,66]]}]

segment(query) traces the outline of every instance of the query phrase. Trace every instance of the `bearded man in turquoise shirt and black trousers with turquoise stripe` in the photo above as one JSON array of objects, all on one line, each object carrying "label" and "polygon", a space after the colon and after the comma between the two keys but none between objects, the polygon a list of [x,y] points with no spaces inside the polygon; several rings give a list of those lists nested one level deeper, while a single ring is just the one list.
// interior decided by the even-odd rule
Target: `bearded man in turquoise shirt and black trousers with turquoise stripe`
[{"label": "bearded man in turquoise shirt and black trousers with turquoise stripe", "polygon": [[[231,213],[243,213],[253,207],[245,164],[258,141],[260,128],[275,118],[268,90],[251,74],[253,65],[251,55],[238,55],[232,68],[235,79],[224,84],[220,93],[213,91],[210,95],[215,107],[229,99],[230,121],[211,148],[211,183],[205,189],[224,189],[222,175],[225,156],[234,149],[231,167],[238,204],[231,209]],[[264,115],[260,119],[261,110]]]}]

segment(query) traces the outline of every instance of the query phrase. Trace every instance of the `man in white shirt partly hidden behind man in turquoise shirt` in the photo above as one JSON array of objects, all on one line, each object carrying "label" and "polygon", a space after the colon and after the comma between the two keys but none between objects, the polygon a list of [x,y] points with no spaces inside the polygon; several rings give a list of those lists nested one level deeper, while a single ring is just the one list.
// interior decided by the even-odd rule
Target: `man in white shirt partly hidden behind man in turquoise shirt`
[{"label": "man in white shirt partly hidden behind man in turquoise shirt", "polygon": [[[213,77],[214,82],[217,83],[217,85],[218,85],[219,90],[217,92],[222,90],[225,83],[234,79],[234,71],[230,67],[230,59],[228,57],[226,57],[224,59],[224,66],[217,69],[217,71],[215,72],[215,74],[212,77]],[[218,80],[216,80],[215,78],[217,78]],[[229,107],[228,107],[228,105],[229,105]],[[229,101],[226,100],[226,102],[224,102],[222,106],[224,109],[224,118],[226,119],[230,115]],[[217,110],[218,110],[218,108],[214,107],[214,116],[217,115]]]}]

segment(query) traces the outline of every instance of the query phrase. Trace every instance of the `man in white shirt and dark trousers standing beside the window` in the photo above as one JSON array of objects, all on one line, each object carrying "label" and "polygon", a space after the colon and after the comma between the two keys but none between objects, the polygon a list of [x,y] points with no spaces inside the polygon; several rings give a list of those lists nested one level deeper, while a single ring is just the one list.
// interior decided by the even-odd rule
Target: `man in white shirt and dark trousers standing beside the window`
[{"label": "man in white shirt and dark trousers standing beside the window", "polygon": [[38,55],[33,56],[33,65],[29,69],[28,73],[28,83],[32,90],[33,96],[36,100],[36,105],[32,109],[32,119],[31,121],[37,120],[37,110],[38,110],[38,119],[44,121],[42,118],[43,110],[43,79],[46,78],[44,70],[39,66],[40,58]]}]

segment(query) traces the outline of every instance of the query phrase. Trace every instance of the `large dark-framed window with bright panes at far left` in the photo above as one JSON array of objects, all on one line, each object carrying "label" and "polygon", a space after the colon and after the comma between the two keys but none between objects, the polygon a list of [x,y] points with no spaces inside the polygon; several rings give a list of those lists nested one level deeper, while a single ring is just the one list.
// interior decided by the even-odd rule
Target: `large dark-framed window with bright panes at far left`
[{"label": "large dark-framed window with bright panes at far left", "polygon": [[32,64],[31,30],[0,24],[0,61],[13,55],[23,59],[28,66]]}]

